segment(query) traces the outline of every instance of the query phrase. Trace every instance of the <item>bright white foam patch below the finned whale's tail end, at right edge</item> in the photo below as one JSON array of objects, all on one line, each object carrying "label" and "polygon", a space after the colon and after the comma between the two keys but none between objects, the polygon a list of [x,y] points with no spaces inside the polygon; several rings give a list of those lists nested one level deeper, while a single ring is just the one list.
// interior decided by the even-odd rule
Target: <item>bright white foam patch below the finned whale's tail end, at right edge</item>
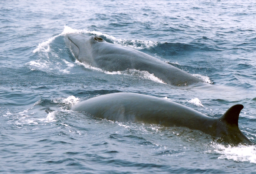
[{"label": "bright white foam patch below the finned whale's tail end, at right edge", "polygon": [[237,162],[249,162],[256,164],[256,147],[253,145],[239,145],[236,147],[225,147],[221,144],[214,144],[214,152],[220,154],[218,159],[228,159]]}]

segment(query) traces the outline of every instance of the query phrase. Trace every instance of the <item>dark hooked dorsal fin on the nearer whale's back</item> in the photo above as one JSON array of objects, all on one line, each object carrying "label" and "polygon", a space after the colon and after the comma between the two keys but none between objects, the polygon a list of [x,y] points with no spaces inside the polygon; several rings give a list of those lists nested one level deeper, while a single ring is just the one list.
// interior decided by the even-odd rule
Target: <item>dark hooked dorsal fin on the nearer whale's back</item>
[{"label": "dark hooked dorsal fin on the nearer whale's back", "polygon": [[228,124],[238,126],[238,118],[240,111],[243,109],[242,104],[236,104],[230,107],[219,119],[220,121],[225,121]]}]

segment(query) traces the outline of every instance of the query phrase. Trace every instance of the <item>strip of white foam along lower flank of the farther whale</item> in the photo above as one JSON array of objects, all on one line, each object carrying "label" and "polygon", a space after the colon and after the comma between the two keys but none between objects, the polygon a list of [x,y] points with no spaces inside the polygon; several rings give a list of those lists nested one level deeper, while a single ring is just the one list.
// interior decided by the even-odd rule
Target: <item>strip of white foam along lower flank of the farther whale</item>
[{"label": "strip of white foam along lower flank of the farther whale", "polygon": [[92,67],[89,64],[85,64],[85,63],[81,63],[80,61],[76,60],[75,63],[77,63],[78,65],[84,66],[85,68],[91,69],[91,70],[97,70],[97,71],[101,71],[105,74],[124,74],[124,75],[131,75],[131,76],[135,76],[135,77],[141,77],[141,78],[147,78],[150,79],[152,81],[155,81],[157,83],[164,83],[163,80],[157,78],[156,76],[154,76],[154,74],[150,74],[148,71],[140,71],[140,70],[135,70],[135,69],[127,69],[124,71],[105,71],[102,70],[101,68],[96,68],[96,67]]}]

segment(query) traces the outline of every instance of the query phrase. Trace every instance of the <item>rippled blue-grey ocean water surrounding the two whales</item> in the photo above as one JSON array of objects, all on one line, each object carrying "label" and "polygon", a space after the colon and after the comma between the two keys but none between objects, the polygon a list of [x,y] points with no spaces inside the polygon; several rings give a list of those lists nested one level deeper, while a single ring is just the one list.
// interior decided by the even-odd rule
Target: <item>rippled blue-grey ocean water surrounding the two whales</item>
[{"label": "rippled blue-grey ocean water surrounding the two whales", "polygon": [[[256,143],[254,0],[1,0],[0,173],[256,173],[256,146],[187,128],[102,120],[69,108],[102,94],[165,98],[210,117],[243,104]],[[107,72],[77,61],[64,37],[91,33],[166,61],[205,84]]]}]

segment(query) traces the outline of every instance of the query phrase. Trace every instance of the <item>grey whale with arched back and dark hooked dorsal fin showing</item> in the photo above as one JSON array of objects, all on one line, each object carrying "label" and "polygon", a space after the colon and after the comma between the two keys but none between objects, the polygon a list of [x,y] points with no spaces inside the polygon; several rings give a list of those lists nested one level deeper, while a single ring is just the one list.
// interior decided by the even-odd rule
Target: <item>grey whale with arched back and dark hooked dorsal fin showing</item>
[{"label": "grey whale with arched back and dark hooked dorsal fin showing", "polygon": [[238,127],[242,104],[236,104],[221,117],[213,118],[164,98],[138,93],[112,93],[81,101],[70,109],[113,121],[186,127],[230,145],[253,145]]}]

